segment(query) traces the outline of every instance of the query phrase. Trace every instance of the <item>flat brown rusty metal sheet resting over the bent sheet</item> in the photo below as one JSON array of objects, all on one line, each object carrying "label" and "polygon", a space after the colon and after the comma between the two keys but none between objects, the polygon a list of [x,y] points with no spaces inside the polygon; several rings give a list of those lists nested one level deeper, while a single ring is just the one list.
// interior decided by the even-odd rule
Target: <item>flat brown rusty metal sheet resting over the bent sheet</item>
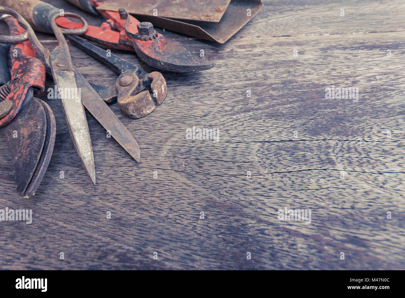
[{"label": "flat brown rusty metal sheet resting over the bent sheet", "polygon": [[153,15],[174,19],[219,22],[230,0],[106,0],[98,9],[123,8],[137,15]]}]

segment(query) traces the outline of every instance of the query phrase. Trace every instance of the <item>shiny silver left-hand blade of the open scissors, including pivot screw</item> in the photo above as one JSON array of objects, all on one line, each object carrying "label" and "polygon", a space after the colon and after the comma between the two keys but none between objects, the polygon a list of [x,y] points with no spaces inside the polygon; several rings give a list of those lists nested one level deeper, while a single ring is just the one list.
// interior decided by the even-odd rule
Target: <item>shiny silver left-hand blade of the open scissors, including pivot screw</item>
[{"label": "shiny silver left-hand blade of the open scissors, including pivot screw", "polygon": [[92,141],[87,126],[86,114],[80,99],[83,91],[77,87],[75,71],[64,67],[64,64],[69,67],[69,63],[66,63],[66,57],[66,52],[61,47],[56,47],[49,55],[53,81],[60,91],[66,124],[73,145],[84,169],[93,184],[96,184]]}]

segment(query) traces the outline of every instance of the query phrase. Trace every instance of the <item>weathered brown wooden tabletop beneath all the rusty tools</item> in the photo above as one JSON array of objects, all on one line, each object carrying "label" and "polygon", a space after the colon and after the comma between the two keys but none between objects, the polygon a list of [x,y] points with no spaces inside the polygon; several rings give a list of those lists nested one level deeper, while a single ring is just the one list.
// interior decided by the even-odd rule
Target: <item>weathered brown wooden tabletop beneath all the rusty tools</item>
[{"label": "weathered brown wooden tabletop beneath all the rusty tools", "polygon": [[[145,118],[111,106],[138,141],[140,163],[87,114],[96,186],[60,102],[40,96],[57,137],[34,197],[15,194],[0,141],[0,209],[33,212],[30,225],[0,221],[0,269],[405,268],[405,3],[263,2],[223,45],[164,32],[216,66],[162,72],[167,97]],[[89,81],[115,84],[115,72],[70,50]],[[353,88],[354,98],[337,88]],[[216,129],[219,140],[186,139],[193,126]],[[310,209],[311,223],[279,221],[284,208]]]}]

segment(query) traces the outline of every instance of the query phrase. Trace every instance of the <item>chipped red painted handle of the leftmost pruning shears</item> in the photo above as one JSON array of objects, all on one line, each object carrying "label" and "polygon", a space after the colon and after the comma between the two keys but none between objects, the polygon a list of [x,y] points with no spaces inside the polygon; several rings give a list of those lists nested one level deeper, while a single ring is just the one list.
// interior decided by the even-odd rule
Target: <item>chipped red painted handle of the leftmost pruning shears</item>
[{"label": "chipped red painted handle of the leftmost pruning shears", "polygon": [[[13,17],[4,19],[9,25],[11,34],[21,34],[25,29],[19,26]],[[11,91],[5,100],[13,101],[13,108],[0,119],[0,128],[9,124],[20,111],[23,100],[28,89],[34,88],[34,95],[43,92],[45,89],[45,66],[43,62],[35,57],[35,51],[29,41],[24,41],[17,45],[11,45]]]}]

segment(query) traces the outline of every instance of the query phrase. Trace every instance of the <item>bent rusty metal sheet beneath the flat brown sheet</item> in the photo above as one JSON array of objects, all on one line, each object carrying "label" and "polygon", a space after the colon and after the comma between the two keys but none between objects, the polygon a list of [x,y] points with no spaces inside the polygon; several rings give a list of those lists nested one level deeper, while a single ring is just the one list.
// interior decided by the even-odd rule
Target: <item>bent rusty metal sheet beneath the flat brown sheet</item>
[{"label": "bent rusty metal sheet beneath the flat brown sheet", "polygon": [[[105,4],[98,6],[97,9],[100,10],[101,7],[103,9],[112,9],[110,5],[109,2],[105,2]],[[260,0],[232,0],[219,22],[181,21],[160,16],[139,15],[137,14],[136,6],[128,8],[127,12],[134,14],[139,21],[149,21],[159,28],[191,35],[200,39],[216,41],[217,43],[225,43],[232,35],[245,26],[261,8],[262,2]],[[250,16],[247,15],[247,9],[250,9]]]}]

